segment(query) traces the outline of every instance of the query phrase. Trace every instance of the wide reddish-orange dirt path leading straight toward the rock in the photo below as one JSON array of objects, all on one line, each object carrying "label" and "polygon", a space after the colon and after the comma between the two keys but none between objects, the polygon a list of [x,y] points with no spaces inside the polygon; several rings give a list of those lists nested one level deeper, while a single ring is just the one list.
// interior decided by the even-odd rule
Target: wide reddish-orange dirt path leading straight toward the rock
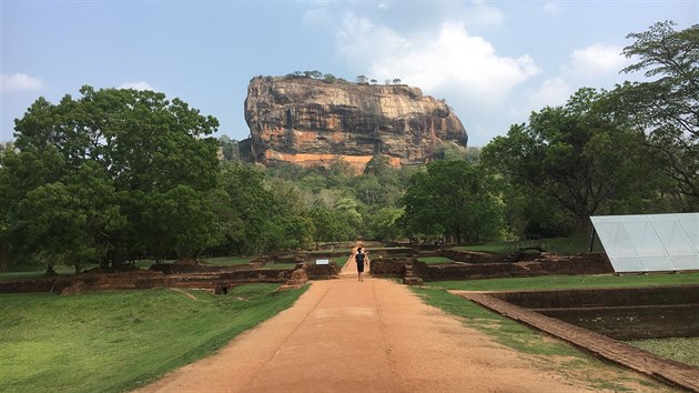
[{"label": "wide reddish-orange dirt path leading straight toward the rock", "polygon": [[348,261],[340,280],[313,282],[293,308],[141,392],[581,392],[589,373],[506,349],[398,283],[357,282]]}]

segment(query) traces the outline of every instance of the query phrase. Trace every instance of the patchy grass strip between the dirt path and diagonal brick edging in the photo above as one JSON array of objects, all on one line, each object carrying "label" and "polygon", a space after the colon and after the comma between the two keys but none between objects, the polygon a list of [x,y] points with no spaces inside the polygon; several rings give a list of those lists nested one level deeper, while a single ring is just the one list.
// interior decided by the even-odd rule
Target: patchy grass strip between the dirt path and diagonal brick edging
[{"label": "patchy grass strip between the dirt path and diagonal brick edging", "polygon": [[[427,304],[442,309],[443,311],[463,318],[464,324],[484,334],[492,336],[498,343],[515,351],[536,356],[538,362],[557,373],[579,374],[579,370],[586,370],[586,383],[590,390],[605,390],[624,392],[630,391],[625,381],[632,381],[652,387],[656,391],[667,391],[667,386],[622,369],[610,366],[592,355],[588,355],[561,341],[551,340],[538,331],[531,330],[505,316],[486,310],[470,301],[455,296],[437,288],[411,289],[422,298]],[[604,379],[595,377],[601,373]]]}]

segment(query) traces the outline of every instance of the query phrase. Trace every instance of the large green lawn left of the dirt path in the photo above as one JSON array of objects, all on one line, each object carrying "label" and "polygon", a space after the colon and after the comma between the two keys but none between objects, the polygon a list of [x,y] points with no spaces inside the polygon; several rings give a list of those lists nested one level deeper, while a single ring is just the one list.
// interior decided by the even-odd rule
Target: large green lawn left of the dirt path
[{"label": "large green lawn left of the dirt path", "polygon": [[216,351],[305,289],[0,295],[3,392],[121,392]]}]

